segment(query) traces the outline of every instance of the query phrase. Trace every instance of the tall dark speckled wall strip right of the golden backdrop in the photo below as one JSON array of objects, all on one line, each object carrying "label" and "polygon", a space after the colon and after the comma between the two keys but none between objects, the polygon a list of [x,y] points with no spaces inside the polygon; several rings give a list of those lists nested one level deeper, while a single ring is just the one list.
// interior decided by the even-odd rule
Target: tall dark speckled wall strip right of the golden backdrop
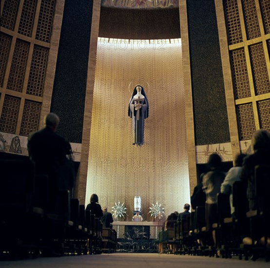
[{"label": "tall dark speckled wall strip right of the golden backdrop", "polygon": [[188,0],[195,144],[230,141],[214,0]]}]

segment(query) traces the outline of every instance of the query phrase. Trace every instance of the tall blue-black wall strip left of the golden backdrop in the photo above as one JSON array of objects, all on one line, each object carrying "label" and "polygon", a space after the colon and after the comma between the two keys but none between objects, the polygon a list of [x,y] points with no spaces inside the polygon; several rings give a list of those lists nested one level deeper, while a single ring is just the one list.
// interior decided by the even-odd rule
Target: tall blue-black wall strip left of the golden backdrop
[{"label": "tall blue-black wall strip left of the golden backdrop", "polygon": [[93,2],[66,1],[58,49],[51,112],[58,133],[81,143]]}]

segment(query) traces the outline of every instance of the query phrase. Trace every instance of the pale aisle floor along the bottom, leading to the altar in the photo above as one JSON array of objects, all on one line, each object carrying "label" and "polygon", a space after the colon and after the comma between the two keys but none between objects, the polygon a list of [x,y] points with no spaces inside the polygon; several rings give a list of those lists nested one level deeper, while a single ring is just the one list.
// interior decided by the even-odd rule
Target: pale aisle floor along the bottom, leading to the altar
[{"label": "pale aisle floor along the bottom, leading to the altar", "polygon": [[1,268],[269,268],[270,263],[203,256],[157,253],[113,253],[101,255],[0,261]]}]

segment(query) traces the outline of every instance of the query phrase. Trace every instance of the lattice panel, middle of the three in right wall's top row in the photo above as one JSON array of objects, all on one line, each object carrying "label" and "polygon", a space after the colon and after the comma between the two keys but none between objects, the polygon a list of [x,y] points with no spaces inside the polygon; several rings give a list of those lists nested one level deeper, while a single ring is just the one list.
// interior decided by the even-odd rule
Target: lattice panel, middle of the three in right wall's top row
[{"label": "lattice panel, middle of the three in right wall's top row", "polygon": [[244,8],[247,38],[257,38],[261,36],[261,32],[255,2],[254,0],[242,0],[242,3]]}]

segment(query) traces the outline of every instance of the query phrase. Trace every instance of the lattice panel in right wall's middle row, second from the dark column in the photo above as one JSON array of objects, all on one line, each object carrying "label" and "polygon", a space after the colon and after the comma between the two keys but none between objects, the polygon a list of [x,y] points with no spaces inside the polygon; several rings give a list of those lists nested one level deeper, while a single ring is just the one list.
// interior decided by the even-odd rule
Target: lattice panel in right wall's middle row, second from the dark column
[{"label": "lattice panel in right wall's middle row, second from the dark column", "polygon": [[262,43],[250,46],[253,79],[256,95],[270,93],[270,81]]}]

